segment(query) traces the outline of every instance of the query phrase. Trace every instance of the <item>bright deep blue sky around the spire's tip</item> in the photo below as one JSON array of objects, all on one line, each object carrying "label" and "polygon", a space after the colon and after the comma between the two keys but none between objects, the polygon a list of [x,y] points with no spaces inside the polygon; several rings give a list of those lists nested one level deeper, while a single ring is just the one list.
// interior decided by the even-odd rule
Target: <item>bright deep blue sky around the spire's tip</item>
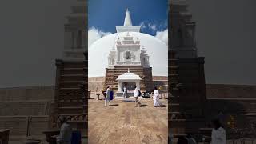
[{"label": "bright deep blue sky around the spire's tip", "polygon": [[126,8],[133,25],[142,25],[142,32],[155,35],[168,27],[168,0],[89,0],[89,28],[115,33],[115,26],[122,26]]}]

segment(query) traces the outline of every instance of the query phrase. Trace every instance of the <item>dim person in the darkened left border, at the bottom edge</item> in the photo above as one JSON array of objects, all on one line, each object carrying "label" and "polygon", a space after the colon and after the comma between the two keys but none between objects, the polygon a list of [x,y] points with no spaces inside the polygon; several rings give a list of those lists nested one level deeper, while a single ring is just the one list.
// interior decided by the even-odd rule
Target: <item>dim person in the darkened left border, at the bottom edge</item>
[{"label": "dim person in the darkened left border, at the bottom edge", "polygon": [[72,136],[72,129],[70,124],[67,123],[66,117],[60,117],[59,121],[61,123],[61,130],[56,138],[56,142],[58,144],[71,144],[71,136]]}]

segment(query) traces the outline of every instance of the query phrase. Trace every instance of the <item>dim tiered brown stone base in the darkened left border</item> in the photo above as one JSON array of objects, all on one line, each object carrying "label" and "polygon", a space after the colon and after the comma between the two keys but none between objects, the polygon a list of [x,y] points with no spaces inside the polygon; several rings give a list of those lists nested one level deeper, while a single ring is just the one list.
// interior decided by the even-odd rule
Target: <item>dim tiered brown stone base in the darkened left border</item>
[{"label": "dim tiered brown stone base in the darkened left border", "polygon": [[[87,135],[87,66],[86,62],[56,60],[56,90],[53,127],[65,116],[74,130]],[[56,117],[57,116],[57,117]]]}]

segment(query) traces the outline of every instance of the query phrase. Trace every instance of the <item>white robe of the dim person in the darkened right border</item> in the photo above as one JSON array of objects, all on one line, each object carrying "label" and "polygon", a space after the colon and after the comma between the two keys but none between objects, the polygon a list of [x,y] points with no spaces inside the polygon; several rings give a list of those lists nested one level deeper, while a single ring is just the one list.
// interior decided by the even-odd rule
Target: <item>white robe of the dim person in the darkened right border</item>
[{"label": "white robe of the dim person in the darkened right border", "polygon": [[226,144],[226,130],[222,127],[218,128],[218,130],[213,129],[210,144]]}]

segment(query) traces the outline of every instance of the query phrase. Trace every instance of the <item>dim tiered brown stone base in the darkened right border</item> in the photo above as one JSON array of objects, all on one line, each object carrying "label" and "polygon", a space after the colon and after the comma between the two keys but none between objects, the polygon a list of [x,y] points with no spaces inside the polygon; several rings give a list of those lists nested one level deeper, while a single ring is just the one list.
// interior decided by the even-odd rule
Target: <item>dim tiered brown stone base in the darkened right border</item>
[{"label": "dim tiered brown stone base in the darkened right border", "polygon": [[[202,85],[203,77],[194,75],[195,71],[200,70],[193,62],[184,62],[175,58],[175,53],[170,50],[169,59],[169,88],[170,88],[170,101],[169,101],[169,128],[174,139],[177,140],[179,136],[191,134],[196,137],[203,135],[200,128],[205,126],[205,119],[203,114],[203,102],[205,99],[202,97],[204,87]],[[195,69],[190,69],[194,66]],[[191,72],[190,74],[185,74]],[[190,84],[193,83],[194,86]],[[200,91],[201,90],[201,91]],[[199,138],[201,139],[201,138]]]}]

